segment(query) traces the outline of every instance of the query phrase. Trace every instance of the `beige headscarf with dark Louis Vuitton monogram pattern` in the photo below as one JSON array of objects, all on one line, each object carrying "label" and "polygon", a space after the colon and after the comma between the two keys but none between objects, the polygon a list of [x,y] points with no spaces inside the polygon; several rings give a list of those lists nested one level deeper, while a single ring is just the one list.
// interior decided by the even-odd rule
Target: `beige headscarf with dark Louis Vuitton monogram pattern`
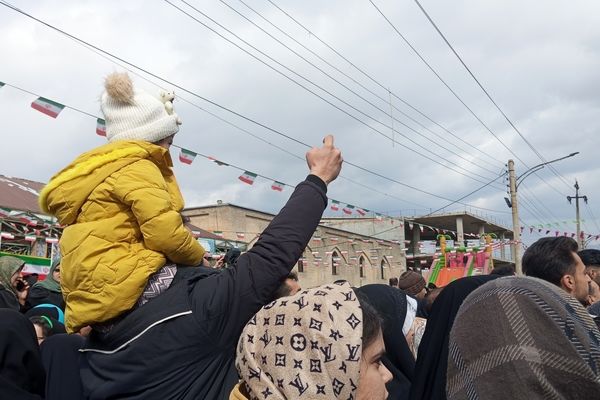
[{"label": "beige headscarf with dark Louis Vuitton monogram pattern", "polygon": [[251,399],[353,399],[362,311],[346,282],[264,306],[238,343],[236,367]]}]

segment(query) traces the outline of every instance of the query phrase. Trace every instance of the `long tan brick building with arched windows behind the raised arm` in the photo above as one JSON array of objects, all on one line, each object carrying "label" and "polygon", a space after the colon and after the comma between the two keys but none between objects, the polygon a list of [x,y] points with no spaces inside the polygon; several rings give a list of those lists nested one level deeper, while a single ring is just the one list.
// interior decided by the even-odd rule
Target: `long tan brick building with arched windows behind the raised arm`
[{"label": "long tan brick building with arched windows behind the raised arm", "polygon": [[[252,247],[274,217],[233,204],[188,208],[183,214],[193,225],[243,250]],[[404,231],[399,228],[399,220],[324,218],[294,268],[301,285],[312,287],[338,279],[355,286],[387,283],[406,270]]]}]

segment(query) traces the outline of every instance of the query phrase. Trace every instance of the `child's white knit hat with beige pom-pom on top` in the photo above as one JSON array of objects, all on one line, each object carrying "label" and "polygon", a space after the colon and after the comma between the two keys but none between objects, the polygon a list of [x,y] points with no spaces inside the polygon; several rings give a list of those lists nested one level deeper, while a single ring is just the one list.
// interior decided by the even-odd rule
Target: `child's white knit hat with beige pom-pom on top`
[{"label": "child's white knit hat with beige pom-pom on top", "polygon": [[101,108],[109,142],[144,140],[154,143],[179,131],[181,121],[172,112],[174,96],[163,97],[163,103],[143,90],[135,90],[127,73],[110,74],[104,87]]}]

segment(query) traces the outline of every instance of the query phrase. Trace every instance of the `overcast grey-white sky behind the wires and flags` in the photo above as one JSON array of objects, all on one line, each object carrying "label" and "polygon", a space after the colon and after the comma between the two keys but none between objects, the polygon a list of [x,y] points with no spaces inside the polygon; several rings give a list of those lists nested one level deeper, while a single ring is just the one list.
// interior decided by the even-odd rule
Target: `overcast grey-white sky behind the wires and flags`
[{"label": "overcast grey-white sky behind the wires and flags", "polygon": [[[256,13],[238,0],[190,0],[188,3],[281,65],[248,47],[198,11],[172,0],[198,21],[327,101],[166,2],[13,0],[13,4],[299,141],[318,145],[325,134],[332,133],[347,161],[445,198],[456,199],[483,186],[501,173],[509,158],[515,159],[517,174],[542,162],[485,97],[414,1],[377,0],[375,4],[514,154],[450,93],[368,0],[273,0],[312,34],[268,1],[244,1]],[[347,88],[267,36],[226,4]],[[574,195],[572,185],[577,179],[582,194],[589,197],[589,206],[582,207],[583,229],[600,233],[600,221],[592,216],[600,216],[597,178],[600,172],[597,156],[600,3],[422,0],[422,5],[494,100],[546,160],[574,151],[581,153],[554,164],[560,177],[546,168],[524,181],[519,193],[523,199],[521,219],[527,225],[558,222],[560,227],[553,226],[553,231],[574,231],[575,208],[569,205],[566,196]],[[0,38],[0,81],[101,116],[98,99],[103,78],[112,71],[122,71],[123,67],[6,7],[0,7]],[[172,88],[140,74],[161,87]],[[132,76],[137,86],[156,94],[160,90],[142,77]],[[289,184],[296,184],[306,175],[305,162],[275,146],[300,157],[304,156],[306,147],[182,90],[175,89],[175,92],[180,97],[175,109],[184,122],[175,144]],[[46,182],[78,154],[102,145],[105,139],[94,133],[92,117],[65,109],[54,120],[30,108],[34,99],[35,96],[8,86],[0,89],[3,148],[0,174]],[[178,152],[172,149],[187,206],[222,200],[276,212],[290,193],[289,188],[283,193],[272,191],[271,182],[261,178],[253,186],[245,185],[237,180],[240,171],[219,167],[200,157],[191,166],[180,164]],[[448,204],[446,200],[349,165],[344,166],[342,174],[354,182],[336,181],[330,186],[330,197],[359,207],[393,215],[413,215]],[[499,179],[497,184],[464,201],[495,210],[478,212],[510,226],[509,209],[503,200],[505,184],[504,179]],[[464,208],[464,205],[454,204],[446,210]]]}]

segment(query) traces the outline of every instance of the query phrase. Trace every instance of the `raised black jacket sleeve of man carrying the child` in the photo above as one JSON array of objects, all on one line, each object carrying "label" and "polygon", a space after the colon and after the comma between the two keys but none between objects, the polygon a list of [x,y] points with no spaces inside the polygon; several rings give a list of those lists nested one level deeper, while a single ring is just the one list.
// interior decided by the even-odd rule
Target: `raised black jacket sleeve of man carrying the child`
[{"label": "raised black jacket sleeve of man carrying the child", "polygon": [[192,310],[209,340],[222,346],[237,342],[300,258],[326,206],[325,184],[309,175],[235,268],[196,283]]}]

